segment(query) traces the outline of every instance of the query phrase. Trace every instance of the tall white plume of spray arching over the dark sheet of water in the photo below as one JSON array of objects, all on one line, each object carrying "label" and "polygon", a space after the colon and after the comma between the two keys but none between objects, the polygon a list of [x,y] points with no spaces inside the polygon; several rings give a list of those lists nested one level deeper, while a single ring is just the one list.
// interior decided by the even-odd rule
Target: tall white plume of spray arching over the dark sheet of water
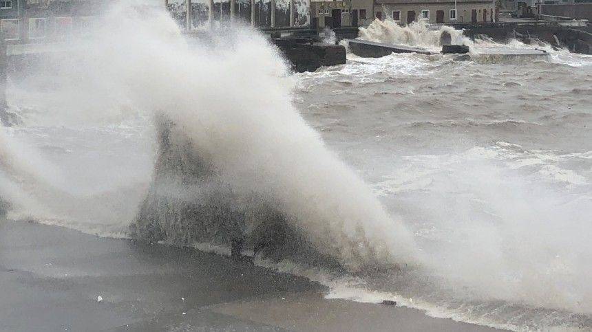
[{"label": "tall white plume of spray arching over the dark sheet of water", "polygon": [[[403,223],[385,212],[370,188],[304,122],[291,104],[294,82],[288,68],[262,36],[240,27],[211,36],[213,46],[188,43],[164,10],[138,9],[129,1],[113,5],[98,26],[90,38],[76,41],[71,56],[52,58],[52,72],[59,73],[52,79],[63,83],[63,91],[70,89],[54,98],[78,109],[76,120],[87,118],[88,124],[96,121],[96,106],[85,114],[85,100],[72,98],[74,91],[112,96],[98,105],[125,105],[119,118],[139,113],[174,124],[182,138],[169,140],[177,144],[170,148],[193,158],[186,162],[207,165],[211,181],[194,181],[189,188],[171,181],[168,201],[193,192],[191,199],[223,196],[227,201],[221,206],[248,206],[248,198],[257,197],[281,212],[317,252],[343,265],[412,262],[414,244]],[[224,217],[216,222],[224,223]],[[178,220],[169,229],[189,224]]]}]

